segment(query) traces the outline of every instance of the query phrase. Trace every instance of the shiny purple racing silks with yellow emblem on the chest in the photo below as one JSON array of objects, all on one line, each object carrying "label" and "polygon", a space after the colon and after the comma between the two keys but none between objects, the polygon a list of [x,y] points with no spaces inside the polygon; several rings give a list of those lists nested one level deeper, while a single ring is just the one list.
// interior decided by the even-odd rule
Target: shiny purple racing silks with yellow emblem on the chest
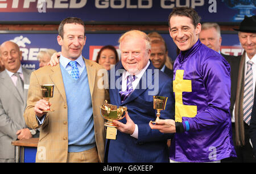
[{"label": "shiny purple racing silks with yellow emblem on the chest", "polygon": [[170,159],[213,162],[236,157],[232,141],[230,66],[221,54],[197,41],[174,63],[175,133]]}]

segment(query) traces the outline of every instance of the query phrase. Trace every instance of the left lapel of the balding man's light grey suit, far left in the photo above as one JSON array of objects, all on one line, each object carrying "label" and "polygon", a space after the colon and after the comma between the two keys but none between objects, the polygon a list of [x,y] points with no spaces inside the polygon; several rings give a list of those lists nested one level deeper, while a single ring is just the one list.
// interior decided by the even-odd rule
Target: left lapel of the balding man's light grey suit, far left
[{"label": "left lapel of the balding man's light grey suit, far left", "polygon": [[16,97],[16,99],[20,101],[20,103],[24,104],[22,97],[19,95],[19,92],[13,83],[13,80],[11,80],[7,72],[3,71],[3,73],[1,74],[2,74],[1,78],[3,79],[3,86],[5,86],[6,89],[10,91],[10,94],[13,94]]}]

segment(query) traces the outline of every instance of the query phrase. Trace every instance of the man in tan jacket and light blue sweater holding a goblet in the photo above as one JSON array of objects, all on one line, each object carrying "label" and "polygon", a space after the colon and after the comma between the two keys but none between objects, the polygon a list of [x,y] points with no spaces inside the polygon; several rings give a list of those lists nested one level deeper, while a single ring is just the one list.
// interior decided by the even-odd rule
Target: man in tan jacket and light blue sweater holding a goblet
[{"label": "man in tan jacket and light blue sweater holding a goblet", "polygon": [[[100,114],[100,105],[103,105],[105,99],[109,98],[108,91],[102,84],[104,82],[107,85],[108,81],[107,78],[105,81],[103,79],[106,77],[106,74],[103,74],[106,73],[103,67],[81,58],[86,40],[84,33],[85,27],[81,19],[64,19],[59,27],[59,36],[57,36],[57,41],[61,45],[60,62],[61,58],[70,62],[77,61],[77,67],[69,65],[70,62],[66,67],[59,63],[54,67],[42,67],[31,74],[24,118],[31,128],[42,128],[36,162],[103,162],[104,160],[105,129],[104,118]],[[82,60],[82,64],[85,63],[82,72],[79,60]],[[79,70],[78,79],[72,76],[77,69]],[[84,75],[84,71],[87,76]],[[87,81],[84,79],[82,81],[83,77],[88,78],[89,90],[85,90],[83,86]],[[42,99],[40,89],[42,84],[55,84],[53,97],[49,104]],[[82,84],[82,87],[77,87],[76,84]],[[70,91],[70,86],[72,89],[75,87],[76,91],[72,89]],[[90,97],[83,97],[86,93],[89,93]],[[81,95],[77,96],[77,94]],[[75,100],[72,99],[73,95],[76,96]],[[73,107],[71,100],[75,103],[80,101],[80,103]],[[88,106],[90,102],[91,106]],[[43,112],[49,107],[53,110],[52,112]],[[85,112],[81,113],[80,110]],[[79,119],[74,124],[73,120],[77,118]],[[93,122],[85,122],[86,119],[91,119]],[[85,135],[84,133],[89,128],[91,131]],[[84,137],[77,137],[76,134]],[[89,143],[86,143],[86,139],[90,140]]]}]

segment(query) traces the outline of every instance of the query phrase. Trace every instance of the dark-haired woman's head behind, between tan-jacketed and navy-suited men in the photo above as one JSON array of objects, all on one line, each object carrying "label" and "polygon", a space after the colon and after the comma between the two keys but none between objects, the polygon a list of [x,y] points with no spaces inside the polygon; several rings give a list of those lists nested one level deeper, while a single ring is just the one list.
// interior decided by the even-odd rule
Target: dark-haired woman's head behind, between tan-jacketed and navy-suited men
[{"label": "dark-haired woman's head behind, between tan-jacketed and navy-suited men", "polygon": [[117,50],[112,45],[106,45],[98,52],[96,62],[110,70],[110,65],[115,65],[119,61]]}]

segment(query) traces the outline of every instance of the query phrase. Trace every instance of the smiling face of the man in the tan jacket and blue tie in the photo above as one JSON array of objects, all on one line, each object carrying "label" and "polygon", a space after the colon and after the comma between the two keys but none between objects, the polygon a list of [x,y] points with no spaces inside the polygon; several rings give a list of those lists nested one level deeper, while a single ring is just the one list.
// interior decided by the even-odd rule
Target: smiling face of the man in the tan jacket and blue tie
[{"label": "smiling face of the man in the tan jacket and blue tie", "polygon": [[82,54],[86,37],[84,26],[81,24],[67,23],[63,27],[64,35],[57,36],[57,41],[61,45],[61,54],[70,60],[76,60]]}]

